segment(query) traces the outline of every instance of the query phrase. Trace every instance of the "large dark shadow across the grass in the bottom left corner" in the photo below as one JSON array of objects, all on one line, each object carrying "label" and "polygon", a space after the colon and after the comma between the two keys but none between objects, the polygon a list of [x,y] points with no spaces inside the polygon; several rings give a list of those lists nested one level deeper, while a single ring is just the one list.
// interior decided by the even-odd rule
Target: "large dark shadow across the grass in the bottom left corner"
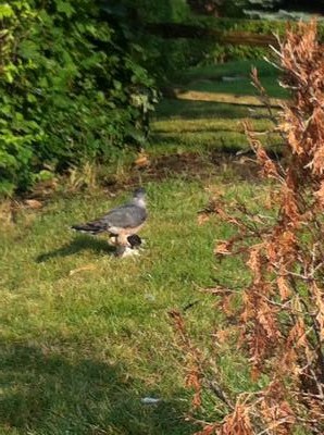
[{"label": "large dark shadow across the grass in the bottom left corner", "polygon": [[184,402],[176,398],[144,405],[140,383],[121,363],[79,357],[71,362],[52,349],[27,345],[2,344],[0,351],[0,426],[8,434],[192,432],[182,418]]}]

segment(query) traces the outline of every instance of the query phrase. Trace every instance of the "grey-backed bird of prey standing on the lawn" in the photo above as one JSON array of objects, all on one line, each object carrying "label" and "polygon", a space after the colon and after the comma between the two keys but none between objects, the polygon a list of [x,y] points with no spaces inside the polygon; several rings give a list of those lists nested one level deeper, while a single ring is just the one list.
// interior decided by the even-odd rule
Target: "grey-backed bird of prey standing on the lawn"
[{"label": "grey-backed bird of prey standing on the lawn", "polygon": [[86,224],[73,225],[72,228],[92,235],[109,233],[114,237],[116,256],[129,253],[141,244],[137,235],[147,220],[146,191],[142,187],[134,191],[130,201],[110,210],[102,217]]}]

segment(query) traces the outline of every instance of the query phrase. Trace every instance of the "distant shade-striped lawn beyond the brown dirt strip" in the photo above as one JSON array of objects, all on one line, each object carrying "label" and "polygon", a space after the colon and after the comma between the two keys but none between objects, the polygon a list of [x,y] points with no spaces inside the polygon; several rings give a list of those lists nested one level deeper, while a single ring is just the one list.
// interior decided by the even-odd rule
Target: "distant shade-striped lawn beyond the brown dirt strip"
[{"label": "distant shade-striped lawn beyond the brown dirt strip", "polygon": [[[260,60],[196,67],[182,72],[176,78],[185,90],[256,96],[257,90],[249,77],[252,65],[258,67],[260,80],[271,97],[287,97],[287,92],[277,83],[277,70]],[[223,76],[236,75],[242,79],[221,79]],[[273,113],[276,111],[273,109]],[[242,127],[246,119],[251,120],[266,148],[279,149],[282,138],[274,132],[274,124],[265,108],[163,98],[152,123],[151,146],[148,150],[160,154],[186,151],[205,153],[215,150],[235,153],[248,150]],[[273,132],[269,134],[267,130]]]}]

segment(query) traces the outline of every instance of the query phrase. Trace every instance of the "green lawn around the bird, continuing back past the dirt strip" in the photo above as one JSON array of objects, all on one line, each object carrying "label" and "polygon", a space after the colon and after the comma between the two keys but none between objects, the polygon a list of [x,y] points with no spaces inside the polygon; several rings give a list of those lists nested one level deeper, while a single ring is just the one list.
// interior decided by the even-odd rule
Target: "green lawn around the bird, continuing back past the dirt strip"
[{"label": "green lawn around the bird, continuing back past the dirt strip", "polygon": [[[199,288],[216,281],[247,282],[237,260],[220,264],[213,257],[214,240],[230,229],[215,220],[197,224],[210,189],[251,202],[264,192],[239,162],[212,159],[213,150],[227,145],[230,151],[247,147],[240,124],[246,110],[165,100],[147,148],[152,160],[162,158],[158,177],[150,172],[157,165],[135,170],[113,197],[102,188],[55,196],[41,210],[21,208],[14,222],[3,206],[1,435],[194,432],[184,419],[191,396],[167,311],[184,313],[194,339],[208,352],[222,314]],[[257,123],[260,132],[269,126],[266,120]],[[163,158],[174,152],[197,159],[194,165],[189,159],[171,167]],[[104,238],[70,231],[123,201],[138,184],[148,190],[150,212],[140,257],[116,259]],[[219,352],[217,364],[234,390],[247,388],[246,364],[228,346]],[[161,400],[146,405],[146,397]]]}]

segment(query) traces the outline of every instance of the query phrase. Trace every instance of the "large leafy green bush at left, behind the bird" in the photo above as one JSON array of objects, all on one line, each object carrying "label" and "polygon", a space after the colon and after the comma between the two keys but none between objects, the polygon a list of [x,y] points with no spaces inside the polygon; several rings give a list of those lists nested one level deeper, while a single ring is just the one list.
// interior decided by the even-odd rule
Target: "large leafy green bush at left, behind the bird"
[{"label": "large leafy green bush at left, behind the bird", "polygon": [[123,16],[87,0],[15,0],[0,20],[0,192],[142,138],[152,79]]}]

